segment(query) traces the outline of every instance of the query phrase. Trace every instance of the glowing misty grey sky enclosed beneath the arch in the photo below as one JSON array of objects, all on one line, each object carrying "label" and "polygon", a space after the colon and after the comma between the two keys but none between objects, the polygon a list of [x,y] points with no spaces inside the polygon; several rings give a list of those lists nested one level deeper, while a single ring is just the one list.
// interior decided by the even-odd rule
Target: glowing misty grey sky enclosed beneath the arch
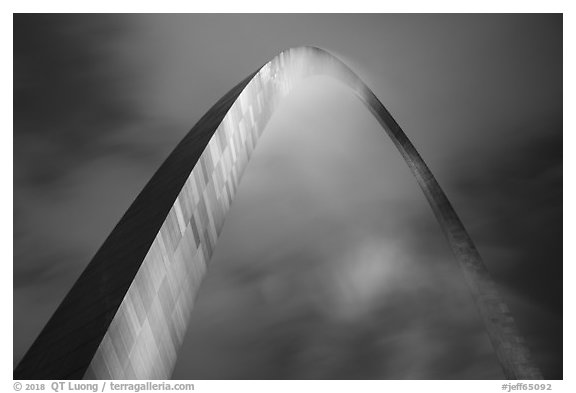
[{"label": "glowing misty grey sky enclosed beneath the arch", "polygon": [[322,78],[279,109],[175,378],[501,378],[433,214],[367,115]]}]

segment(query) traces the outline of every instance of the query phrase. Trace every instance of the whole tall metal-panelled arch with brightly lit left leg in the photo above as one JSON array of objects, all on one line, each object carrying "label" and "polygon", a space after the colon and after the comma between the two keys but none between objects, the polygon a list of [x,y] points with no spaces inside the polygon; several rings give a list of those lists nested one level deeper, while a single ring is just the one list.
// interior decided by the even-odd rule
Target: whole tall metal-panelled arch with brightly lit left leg
[{"label": "whole tall metal-panelled arch with brightly lit left leg", "polygon": [[14,370],[15,379],[171,376],[224,217],[255,144],[295,81],[329,75],[376,117],[416,177],[509,379],[541,379],[436,179],[374,93],[314,47],[280,53],[220,99],[146,184]]}]

